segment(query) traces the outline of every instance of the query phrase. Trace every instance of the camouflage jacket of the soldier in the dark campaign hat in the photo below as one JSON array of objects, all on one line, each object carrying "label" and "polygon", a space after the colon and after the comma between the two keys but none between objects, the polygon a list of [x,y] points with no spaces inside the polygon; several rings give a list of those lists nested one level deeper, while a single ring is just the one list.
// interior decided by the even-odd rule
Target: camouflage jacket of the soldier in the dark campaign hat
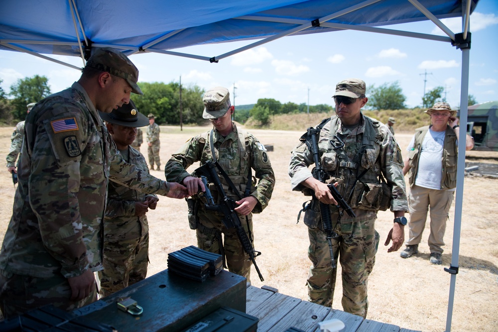
[{"label": "camouflage jacket of the soldier in the dark campaign hat", "polygon": [[[149,172],[147,163],[143,155],[132,147],[128,147],[128,158],[126,162],[135,165],[144,172]],[[110,182],[108,188],[108,199],[106,207],[106,219],[104,222],[104,232],[107,235],[113,231],[114,236],[126,236],[128,228],[133,228],[136,222],[141,224],[141,236],[143,237],[149,231],[147,217],[135,216],[135,202],[144,202],[148,196],[153,194],[144,194],[134,189],[122,186],[119,183]],[[116,232],[119,234],[116,234]]]}]

